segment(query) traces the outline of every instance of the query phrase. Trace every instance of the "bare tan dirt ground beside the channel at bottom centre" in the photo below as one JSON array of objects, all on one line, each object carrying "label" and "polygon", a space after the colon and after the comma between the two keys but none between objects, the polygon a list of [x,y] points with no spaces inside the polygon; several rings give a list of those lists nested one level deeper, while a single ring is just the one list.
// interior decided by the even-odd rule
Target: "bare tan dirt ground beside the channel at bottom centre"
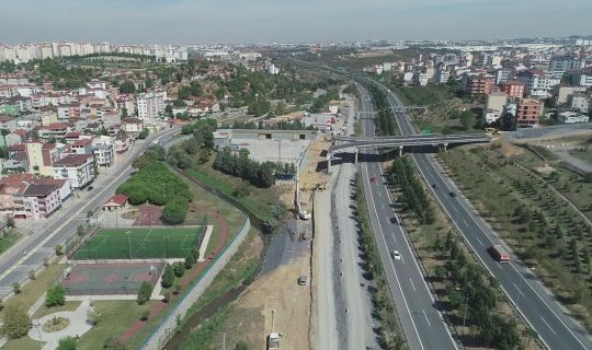
[{"label": "bare tan dirt ground beside the channel at bottom centre", "polygon": [[309,276],[309,256],[303,256],[274,271],[258,277],[236,302],[232,318],[243,319],[237,331],[248,331],[243,339],[254,349],[265,349],[266,336],[272,330],[272,314],[275,312],[275,329],[282,335],[282,349],[310,349],[310,285],[298,285],[301,275]]}]

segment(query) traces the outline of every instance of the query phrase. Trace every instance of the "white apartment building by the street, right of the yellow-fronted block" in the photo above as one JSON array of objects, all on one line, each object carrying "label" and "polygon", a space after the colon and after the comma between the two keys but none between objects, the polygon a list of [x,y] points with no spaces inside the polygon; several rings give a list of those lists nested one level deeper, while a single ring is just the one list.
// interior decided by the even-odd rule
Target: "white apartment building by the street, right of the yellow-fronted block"
[{"label": "white apartment building by the street, right of the yellow-fronted block", "polygon": [[92,154],[70,154],[54,163],[54,178],[66,179],[71,188],[89,185],[95,177],[95,163]]}]

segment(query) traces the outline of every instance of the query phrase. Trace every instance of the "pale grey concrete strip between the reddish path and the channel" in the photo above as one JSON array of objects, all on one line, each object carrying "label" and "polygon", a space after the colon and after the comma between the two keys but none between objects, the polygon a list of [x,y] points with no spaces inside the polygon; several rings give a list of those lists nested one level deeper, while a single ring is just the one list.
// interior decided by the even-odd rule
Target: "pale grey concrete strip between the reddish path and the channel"
[{"label": "pale grey concrete strip between the reddish path and the channel", "polygon": [[247,234],[251,230],[251,221],[249,217],[246,217],[244,225],[232,242],[226,246],[226,248],[219,254],[212,264],[209,264],[201,278],[194,280],[190,289],[184,292],[183,299],[171,308],[169,313],[162,318],[157,329],[149,336],[140,349],[143,350],[159,350],[166,346],[170,335],[174,331],[179,324],[179,320],[185,317],[187,310],[193,305],[207,287],[214,281],[214,278],[224,269],[230,258],[237,253],[240,244],[247,237]]}]

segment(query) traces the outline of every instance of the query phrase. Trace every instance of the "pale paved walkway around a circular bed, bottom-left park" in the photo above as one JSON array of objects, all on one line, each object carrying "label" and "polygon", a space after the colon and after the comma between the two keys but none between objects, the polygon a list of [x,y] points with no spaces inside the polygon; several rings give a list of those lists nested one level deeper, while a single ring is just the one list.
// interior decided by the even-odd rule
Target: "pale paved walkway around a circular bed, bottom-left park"
[{"label": "pale paved walkway around a circular bed, bottom-left park", "polygon": [[[57,348],[59,339],[64,337],[82,336],[91,325],[87,323],[87,313],[90,307],[90,302],[83,301],[75,311],[62,311],[43,316],[38,319],[33,319],[33,328],[29,330],[29,337],[33,340],[45,342],[42,350],[54,350]],[[70,320],[68,327],[53,332],[43,330],[43,325],[54,317],[64,317]]]}]

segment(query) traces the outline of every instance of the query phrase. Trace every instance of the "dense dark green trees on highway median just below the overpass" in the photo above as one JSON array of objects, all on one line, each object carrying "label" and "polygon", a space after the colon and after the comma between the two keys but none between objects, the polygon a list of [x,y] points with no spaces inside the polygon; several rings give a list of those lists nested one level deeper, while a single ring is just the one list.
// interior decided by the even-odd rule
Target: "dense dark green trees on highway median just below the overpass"
[{"label": "dense dark green trees on highway median just below the overpass", "polygon": [[401,189],[399,202],[413,212],[419,222],[430,224],[434,221],[434,210],[423,190],[421,180],[415,176],[409,159],[397,158],[387,175],[388,182]]}]

